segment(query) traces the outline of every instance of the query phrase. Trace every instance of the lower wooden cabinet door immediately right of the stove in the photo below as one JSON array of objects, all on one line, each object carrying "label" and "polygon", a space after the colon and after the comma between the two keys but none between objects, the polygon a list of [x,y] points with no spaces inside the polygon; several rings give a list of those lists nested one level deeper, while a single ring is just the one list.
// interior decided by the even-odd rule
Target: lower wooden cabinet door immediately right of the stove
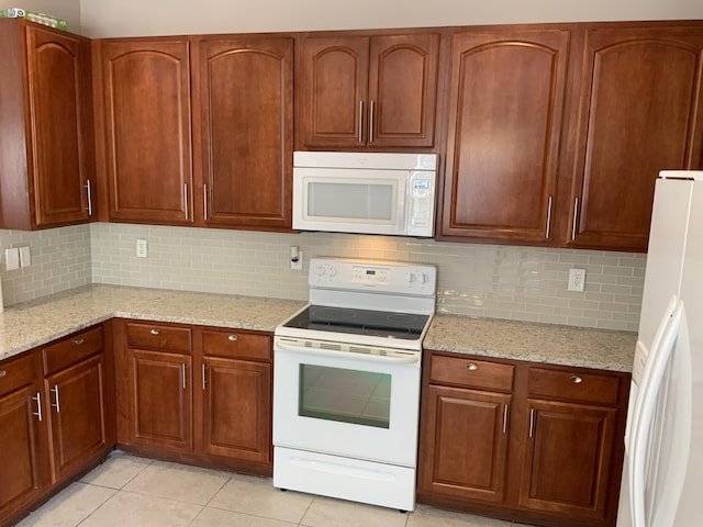
[{"label": "lower wooden cabinet door immediately right of the stove", "polygon": [[423,397],[421,492],[501,502],[511,395],[431,384]]}]

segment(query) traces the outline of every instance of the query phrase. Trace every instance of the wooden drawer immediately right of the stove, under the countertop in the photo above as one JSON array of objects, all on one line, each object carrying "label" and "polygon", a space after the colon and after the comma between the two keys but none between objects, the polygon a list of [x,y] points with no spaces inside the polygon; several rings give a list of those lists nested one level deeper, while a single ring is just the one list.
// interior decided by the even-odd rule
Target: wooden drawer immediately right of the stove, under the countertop
[{"label": "wooden drawer immediately right of the stove, under the countertop", "polygon": [[429,374],[431,382],[440,384],[510,392],[514,369],[514,366],[500,362],[437,355],[432,357]]}]

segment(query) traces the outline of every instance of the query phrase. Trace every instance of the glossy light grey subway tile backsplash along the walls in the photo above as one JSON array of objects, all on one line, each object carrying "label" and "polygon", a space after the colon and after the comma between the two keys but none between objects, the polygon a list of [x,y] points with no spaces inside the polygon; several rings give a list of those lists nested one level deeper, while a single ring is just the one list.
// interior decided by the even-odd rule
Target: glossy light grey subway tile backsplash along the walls
[{"label": "glossy light grey subway tile backsplash along the walls", "polygon": [[[136,240],[147,242],[146,258]],[[4,249],[29,245],[32,266],[5,271]],[[303,270],[290,269],[290,247]],[[94,223],[0,231],[5,305],[86,283],[306,300],[312,256],[434,264],[437,311],[636,332],[646,255],[442,243],[391,236],[255,233]],[[585,291],[567,291],[569,269]]]}]

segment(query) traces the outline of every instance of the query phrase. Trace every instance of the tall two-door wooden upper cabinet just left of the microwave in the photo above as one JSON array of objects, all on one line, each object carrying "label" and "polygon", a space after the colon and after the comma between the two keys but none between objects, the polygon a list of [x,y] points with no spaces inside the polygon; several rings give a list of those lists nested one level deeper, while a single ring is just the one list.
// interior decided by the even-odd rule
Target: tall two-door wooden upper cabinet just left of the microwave
[{"label": "tall two-door wooden upper cabinet just left of the microwave", "polygon": [[291,227],[292,38],[118,38],[96,49],[102,220]]}]

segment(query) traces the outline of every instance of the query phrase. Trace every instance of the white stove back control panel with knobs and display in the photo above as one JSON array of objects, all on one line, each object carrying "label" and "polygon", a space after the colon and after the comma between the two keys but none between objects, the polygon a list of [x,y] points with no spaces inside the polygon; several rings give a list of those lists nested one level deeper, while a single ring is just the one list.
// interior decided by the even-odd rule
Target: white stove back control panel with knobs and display
[{"label": "white stove back control panel with knobs and display", "polygon": [[435,266],[383,260],[313,258],[309,283],[313,288],[376,290],[400,294],[435,294]]}]

